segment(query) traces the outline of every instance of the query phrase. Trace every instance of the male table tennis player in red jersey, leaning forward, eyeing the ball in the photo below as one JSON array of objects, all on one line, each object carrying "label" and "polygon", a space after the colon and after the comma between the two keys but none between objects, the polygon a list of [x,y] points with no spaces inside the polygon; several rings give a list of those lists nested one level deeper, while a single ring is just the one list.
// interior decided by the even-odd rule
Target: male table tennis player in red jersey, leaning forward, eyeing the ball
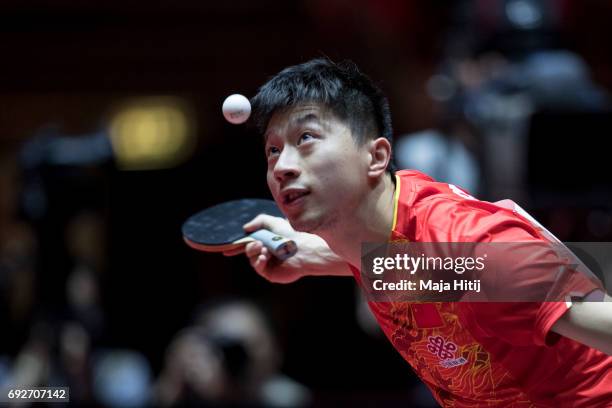
[{"label": "male table tennis player in red jersey, leaning forward, eyeing the ball", "polygon": [[[286,68],[260,88],[253,112],[268,186],[288,222],[260,215],[245,228],[268,228],[299,248],[279,263],[260,242],[246,246],[253,268],[272,282],[360,282],[362,242],[544,239],[526,219],[454,186],[416,171],[394,174],[388,102],[353,64],[317,59]],[[369,306],[444,407],[612,406],[610,302]],[[463,359],[441,364],[449,357]]]}]

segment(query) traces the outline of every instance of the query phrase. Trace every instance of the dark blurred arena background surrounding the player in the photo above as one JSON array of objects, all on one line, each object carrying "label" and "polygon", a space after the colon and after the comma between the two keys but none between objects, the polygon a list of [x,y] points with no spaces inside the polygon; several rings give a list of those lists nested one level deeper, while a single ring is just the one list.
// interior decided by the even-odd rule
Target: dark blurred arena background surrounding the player
[{"label": "dark blurred arena background surrounding the player", "polygon": [[0,4],[0,386],[74,406],[435,406],[351,279],[272,285],[180,226],[269,197],[221,115],[282,68],[351,59],[400,168],[612,239],[606,0]]}]

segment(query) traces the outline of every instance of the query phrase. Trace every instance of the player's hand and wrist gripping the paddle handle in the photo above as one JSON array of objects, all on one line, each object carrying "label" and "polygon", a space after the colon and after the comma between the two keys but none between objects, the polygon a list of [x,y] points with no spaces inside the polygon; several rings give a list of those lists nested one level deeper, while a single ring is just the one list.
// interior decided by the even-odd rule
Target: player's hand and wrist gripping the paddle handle
[{"label": "player's hand and wrist gripping the paddle handle", "polygon": [[279,261],[261,241],[248,243],[244,248],[224,252],[226,256],[246,253],[253,269],[274,283],[290,283],[303,276],[350,276],[346,262],[333,253],[327,243],[318,235],[295,231],[289,222],[280,217],[261,214],[244,225],[248,232],[265,228],[276,234],[291,238],[297,244],[297,253]]}]

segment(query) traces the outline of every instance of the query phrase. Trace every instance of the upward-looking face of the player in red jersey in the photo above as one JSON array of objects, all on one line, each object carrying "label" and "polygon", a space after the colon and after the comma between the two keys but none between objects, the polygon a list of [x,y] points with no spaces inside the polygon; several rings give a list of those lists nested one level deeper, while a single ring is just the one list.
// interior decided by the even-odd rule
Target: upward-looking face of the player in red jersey
[{"label": "upward-looking face of the player in red jersey", "polygon": [[277,112],[265,138],[268,186],[293,228],[328,231],[359,205],[369,153],[329,110],[302,104]]}]

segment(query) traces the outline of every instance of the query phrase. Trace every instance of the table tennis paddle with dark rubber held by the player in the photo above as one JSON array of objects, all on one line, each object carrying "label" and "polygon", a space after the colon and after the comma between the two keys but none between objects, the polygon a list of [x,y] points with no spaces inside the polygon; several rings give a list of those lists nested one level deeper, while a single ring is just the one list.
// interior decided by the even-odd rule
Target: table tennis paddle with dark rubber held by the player
[{"label": "table tennis paddle with dark rubber held by the player", "polygon": [[205,252],[237,249],[252,241],[261,241],[280,260],[297,251],[294,241],[265,229],[252,233],[242,226],[259,214],[284,217],[272,200],[246,198],[209,207],[183,223],[183,239],[190,247]]}]

